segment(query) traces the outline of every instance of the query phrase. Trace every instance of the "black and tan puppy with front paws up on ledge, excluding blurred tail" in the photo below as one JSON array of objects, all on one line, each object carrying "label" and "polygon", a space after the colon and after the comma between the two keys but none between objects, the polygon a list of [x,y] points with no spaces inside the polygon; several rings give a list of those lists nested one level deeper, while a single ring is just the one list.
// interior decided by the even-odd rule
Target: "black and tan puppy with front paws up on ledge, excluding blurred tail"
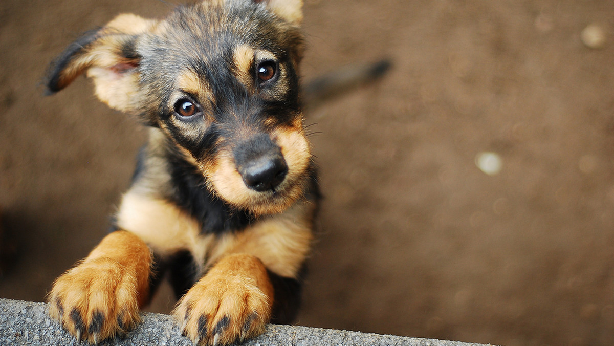
[{"label": "black and tan puppy with front paws up on ledge, excluding blurred tail", "polygon": [[168,273],[203,345],[292,320],[317,204],[303,128],[301,0],[206,0],[164,20],[123,14],[53,63],[150,127],[107,235],[53,284],[50,314],[96,343],[139,321]]}]

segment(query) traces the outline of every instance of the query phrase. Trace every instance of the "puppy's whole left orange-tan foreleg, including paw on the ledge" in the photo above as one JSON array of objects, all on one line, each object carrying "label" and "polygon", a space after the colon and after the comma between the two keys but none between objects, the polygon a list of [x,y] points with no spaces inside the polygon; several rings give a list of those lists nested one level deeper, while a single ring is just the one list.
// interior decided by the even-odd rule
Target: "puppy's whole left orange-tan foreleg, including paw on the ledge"
[{"label": "puppy's whole left orange-tan foreleg, including paw on the ledge", "polygon": [[99,340],[128,331],[149,298],[152,254],[125,230],[107,235],[49,293],[49,313],[80,339]]}]

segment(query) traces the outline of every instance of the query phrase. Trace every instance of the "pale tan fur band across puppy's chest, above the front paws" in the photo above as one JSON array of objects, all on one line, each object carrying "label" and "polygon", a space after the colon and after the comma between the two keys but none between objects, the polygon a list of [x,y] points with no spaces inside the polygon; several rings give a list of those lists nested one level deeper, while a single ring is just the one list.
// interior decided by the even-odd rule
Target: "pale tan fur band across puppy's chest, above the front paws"
[{"label": "pale tan fur band across puppy's chest, above the front paws", "polygon": [[207,268],[225,254],[247,253],[278,275],[296,277],[313,240],[314,207],[309,201],[298,202],[284,213],[257,222],[238,234],[216,238],[201,235],[194,219],[176,206],[129,192],[123,197],[117,222],[161,255],[188,250],[197,263],[205,263]]}]

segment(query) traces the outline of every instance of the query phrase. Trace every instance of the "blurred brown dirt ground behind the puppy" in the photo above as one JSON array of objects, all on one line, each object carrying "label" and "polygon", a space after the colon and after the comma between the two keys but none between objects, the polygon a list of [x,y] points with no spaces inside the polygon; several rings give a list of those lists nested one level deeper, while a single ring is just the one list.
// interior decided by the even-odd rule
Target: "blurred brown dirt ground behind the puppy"
[{"label": "blurred brown dirt ground behind the puppy", "polygon": [[[119,12],[168,10],[0,2],[0,247],[17,251],[0,297],[42,301],[103,237],[144,139],[85,79],[43,96],[47,64]],[[325,200],[298,323],[614,344],[614,2],[306,0],[305,33],[305,79],[394,68],[308,114]]]}]

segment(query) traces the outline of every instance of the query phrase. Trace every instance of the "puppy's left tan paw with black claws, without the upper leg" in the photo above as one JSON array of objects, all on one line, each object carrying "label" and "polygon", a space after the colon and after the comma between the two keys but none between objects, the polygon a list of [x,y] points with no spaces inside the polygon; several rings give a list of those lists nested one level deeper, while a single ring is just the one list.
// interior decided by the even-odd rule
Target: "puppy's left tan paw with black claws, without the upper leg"
[{"label": "puppy's left tan paw with black claws, without the upper leg", "polygon": [[139,321],[137,279],[108,258],[82,262],[53,284],[49,314],[90,344],[123,334]]}]

